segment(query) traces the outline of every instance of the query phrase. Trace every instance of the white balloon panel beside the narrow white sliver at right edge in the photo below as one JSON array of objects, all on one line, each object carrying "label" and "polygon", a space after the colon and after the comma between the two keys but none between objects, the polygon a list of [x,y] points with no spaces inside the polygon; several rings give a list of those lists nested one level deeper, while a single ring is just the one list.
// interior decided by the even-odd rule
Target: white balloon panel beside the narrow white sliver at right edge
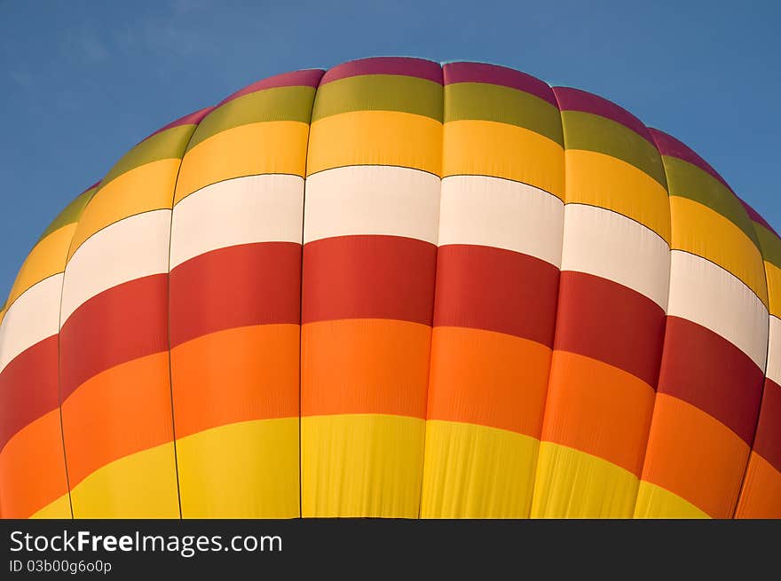
[{"label": "white balloon panel beside the narrow white sliver at right edge", "polygon": [[705,326],[741,349],[760,369],[768,346],[768,310],[735,275],[705,258],[674,250],[668,313]]}]

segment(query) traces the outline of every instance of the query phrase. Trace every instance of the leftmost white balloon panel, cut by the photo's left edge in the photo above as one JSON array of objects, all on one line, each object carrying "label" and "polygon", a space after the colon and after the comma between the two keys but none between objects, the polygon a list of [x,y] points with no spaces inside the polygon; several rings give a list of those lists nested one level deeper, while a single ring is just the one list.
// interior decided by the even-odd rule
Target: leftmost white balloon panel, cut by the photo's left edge
[{"label": "leftmost white balloon panel, cut by the photo's left edge", "polygon": [[0,373],[25,349],[59,332],[62,273],[29,287],[13,302],[0,326]]}]

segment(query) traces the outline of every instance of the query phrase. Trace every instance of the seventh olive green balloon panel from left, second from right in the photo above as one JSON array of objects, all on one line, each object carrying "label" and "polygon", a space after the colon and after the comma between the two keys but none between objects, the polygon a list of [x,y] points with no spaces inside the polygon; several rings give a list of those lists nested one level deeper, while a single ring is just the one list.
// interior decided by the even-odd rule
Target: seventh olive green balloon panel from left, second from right
[{"label": "seventh olive green balloon panel from left, second from right", "polygon": [[759,247],[753,221],[746,213],[746,208],[735,197],[735,194],[725,187],[722,182],[711,176],[706,171],[692,165],[689,161],[683,161],[677,157],[664,156],[665,170],[667,171],[667,184],[671,196],[681,196],[689,200],[698,201],[703,206],[718,212],[732,224],[735,224],[746,232]]}]

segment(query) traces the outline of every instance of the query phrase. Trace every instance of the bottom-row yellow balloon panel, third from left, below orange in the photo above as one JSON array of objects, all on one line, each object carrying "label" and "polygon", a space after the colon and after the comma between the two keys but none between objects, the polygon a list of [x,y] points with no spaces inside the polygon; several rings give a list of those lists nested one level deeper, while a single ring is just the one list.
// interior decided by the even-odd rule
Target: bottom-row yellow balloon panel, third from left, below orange
[{"label": "bottom-row yellow balloon panel, third from left, below orange", "polygon": [[253,420],[177,440],[185,518],[298,516],[298,418]]}]

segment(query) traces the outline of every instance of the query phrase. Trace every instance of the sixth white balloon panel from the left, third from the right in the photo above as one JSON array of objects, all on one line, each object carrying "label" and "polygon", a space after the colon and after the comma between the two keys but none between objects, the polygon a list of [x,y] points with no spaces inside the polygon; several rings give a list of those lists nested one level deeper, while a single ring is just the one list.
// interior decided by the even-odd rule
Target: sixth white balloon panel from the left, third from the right
[{"label": "sixth white balloon panel from the left, third from the right", "polygon": [[562,271],[588,272],[667,309],[670,248],[657,234],[605,208],[567,204]]}]

